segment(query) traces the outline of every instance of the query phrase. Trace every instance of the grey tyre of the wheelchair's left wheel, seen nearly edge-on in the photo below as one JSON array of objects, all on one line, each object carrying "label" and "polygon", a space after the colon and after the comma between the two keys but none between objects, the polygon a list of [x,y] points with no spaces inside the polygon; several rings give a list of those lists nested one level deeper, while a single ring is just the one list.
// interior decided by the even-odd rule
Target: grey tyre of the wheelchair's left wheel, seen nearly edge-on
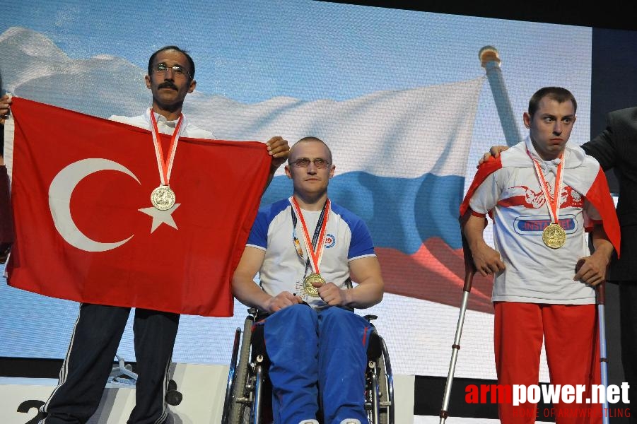
[{"label": "grey tyre of the wheelchair's left wheel, seen nearly edge-on", "polygon": [[250,338],[252,337],[252,317],[247,317],[243,324],[243,335],[239,351],[238,363],[235,367],[232,399],[228,424],[247,424],[250,422],[250,396],[246,397],[248,367],[250,367]]}]

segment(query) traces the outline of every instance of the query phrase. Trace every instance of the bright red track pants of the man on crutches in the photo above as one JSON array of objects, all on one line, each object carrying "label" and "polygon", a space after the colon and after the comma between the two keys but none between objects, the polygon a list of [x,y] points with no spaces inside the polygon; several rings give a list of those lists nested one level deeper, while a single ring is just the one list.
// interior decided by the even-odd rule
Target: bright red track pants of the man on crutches
[{"label": "bright red track pants of the man on crutches", "polygon": [[[585,404],[590,384],[600,384],[600,345],[595,305],[544,305],[495,302],[493,338],[498,384],[538,384],[544,338],[551,384],[585,384],[582,404],[554,404],[537,411],[536,404],[498,404],[501,423],[534,423],[551,414],[557,424],[602,423],[602,405]],[[540,415],[542,414],[542,415]]]}]

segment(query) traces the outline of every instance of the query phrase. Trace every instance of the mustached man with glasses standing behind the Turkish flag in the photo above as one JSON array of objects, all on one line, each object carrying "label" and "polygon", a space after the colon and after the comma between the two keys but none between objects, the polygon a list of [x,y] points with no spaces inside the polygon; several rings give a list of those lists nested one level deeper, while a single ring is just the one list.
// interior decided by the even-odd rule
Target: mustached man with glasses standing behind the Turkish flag
[{"label": "mustached man with glasses standing behind the Turkish flag", "polygon": [[[182,115],[186,95],[197,86],[194,71],[194,61],[185,50],[177,46],[158,49],[148,60],[145,76],[146,87],[153,95],[152,106],[136,117],[112,116],[110,119],[163,134],[173,134],[179,129],[178,135],[183,137],[214,138],[210,131],[194,126]],[[0,124],[10,104],[11,99],[6,95],[0,98]],[[281,137],[273,137],[267,146],[272,157],[270,181],[286,160],[289,146]],[[165,192],[158,194],[158,199],[163,195]],[[40,408],[45,414],[40,424],[86,423],[93,416],[130,310],[110,305],[80,305],[59,384]],[[179,314],[170,312],[135,310],[133,331],[138,379],[136,405],[128,424],[160,424],[168,419],[165,391],[179,318]]]}]

